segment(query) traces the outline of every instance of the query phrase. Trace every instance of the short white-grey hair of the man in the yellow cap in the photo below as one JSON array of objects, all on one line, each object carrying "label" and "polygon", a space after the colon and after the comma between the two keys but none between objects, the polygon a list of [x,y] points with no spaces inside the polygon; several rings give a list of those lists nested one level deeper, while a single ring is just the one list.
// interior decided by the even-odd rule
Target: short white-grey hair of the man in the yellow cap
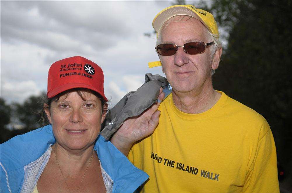
[{"label": "short white-grey hair of the man in the yellow cap", "polygon": [[[161,44],[161,32],[163,30],[165,30],[165,28],[170,24],[170,23],[175,23],[175,22],[186,22],[187,20],[189,20],[190,18],[193,18],[192,16],[189,15],[176,15],[171,17],[170,19],[168,19],[166,22],[164,22],[164,24],[161,26],[159,32],[157,32],[157,41],[156,41],[156,45]],[[206,39],[208,40],[208,42],[205,43],[209,43],[209,42],[214,42],[214,44],[212,44],[212,48],[211,48],[211,55],[210,55],[210,61],[213,61],[214,55],[216,53],[216,51],[218,49],[222,48],[222,42],[219,40],[219,35],[215,35],[212,34],[204,25],[204,31],[206,32]],[[160,55],[158,55],[159,58],[161,57]],[[161,60],[161,58],[160,58]],[[215,73],[215,70],[212,69],[212,75]]]}]

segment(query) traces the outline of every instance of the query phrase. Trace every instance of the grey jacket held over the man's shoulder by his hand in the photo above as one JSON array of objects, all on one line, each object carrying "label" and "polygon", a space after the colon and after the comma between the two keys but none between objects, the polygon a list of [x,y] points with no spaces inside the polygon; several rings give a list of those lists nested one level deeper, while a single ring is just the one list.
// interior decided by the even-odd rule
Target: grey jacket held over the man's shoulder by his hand
[{"label": "grey jacket held over the man's shoulder by his hand", "polygon": [[166,78],[158,74],[145,74],[145,83],[138,90],[126,94],[116,106],[109,110],[100,134],[109,140],[127,118],[140,115],[157,102],[160,87],[163,88],[164,98],[166,98],[171,93]]}]

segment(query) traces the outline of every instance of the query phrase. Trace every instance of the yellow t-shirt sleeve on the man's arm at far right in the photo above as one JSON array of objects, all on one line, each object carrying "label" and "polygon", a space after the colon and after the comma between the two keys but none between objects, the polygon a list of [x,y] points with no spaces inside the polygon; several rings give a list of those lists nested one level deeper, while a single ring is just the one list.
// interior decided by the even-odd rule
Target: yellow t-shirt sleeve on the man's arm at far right
[{"label": "yellow t-shirt sleeve on the man's arm at far right", "polygon": [[[263,128],[264,127],[264,128]],[[280,192],[277,172],[277,156],[270,126],[262,126],[256,153],[246,174],[243,192]]]}]

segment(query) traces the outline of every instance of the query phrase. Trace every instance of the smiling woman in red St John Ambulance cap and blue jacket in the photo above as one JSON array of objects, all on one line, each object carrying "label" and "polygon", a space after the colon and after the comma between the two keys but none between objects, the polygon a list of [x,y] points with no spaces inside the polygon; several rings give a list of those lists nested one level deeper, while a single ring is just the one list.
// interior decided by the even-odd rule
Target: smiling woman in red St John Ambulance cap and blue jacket
[{"label": "smiling woman in red St John Ambulance cap and blue jacket", "polygon": [[0,145],[1,192],[133,192],[147,180],[99,135],[103,80],[86,58],[53,63],[44,104],[51,124]]}]

